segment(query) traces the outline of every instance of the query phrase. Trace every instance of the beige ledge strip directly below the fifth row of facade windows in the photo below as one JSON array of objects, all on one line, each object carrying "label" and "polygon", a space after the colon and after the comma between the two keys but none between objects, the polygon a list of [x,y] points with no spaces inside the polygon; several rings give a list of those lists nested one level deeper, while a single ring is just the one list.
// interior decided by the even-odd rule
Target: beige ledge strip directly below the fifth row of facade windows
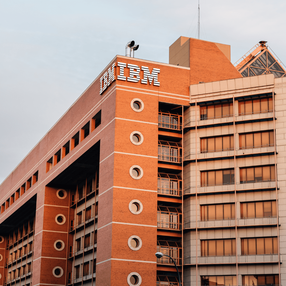
[{"label": "beige ledge strip directly below the fifth row of facade windows", "polygon": [[[279,263],[278,254],[237,255],[238,263]],[[236,264],[236,255],[198,256],[198,264]],[[281,263],[281,255],[280,255]],[[185,264],[196,264],[196,257],[184,257]]]}]

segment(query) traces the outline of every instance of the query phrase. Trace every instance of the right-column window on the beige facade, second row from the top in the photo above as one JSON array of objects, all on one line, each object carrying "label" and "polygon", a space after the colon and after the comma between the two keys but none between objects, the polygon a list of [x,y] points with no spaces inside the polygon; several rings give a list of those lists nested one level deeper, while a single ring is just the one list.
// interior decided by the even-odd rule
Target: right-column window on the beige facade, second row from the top
[{"label": "right-column window on the beige facade, second row from the top", "polygon": [[274,132],[239,134],[239,149],[252,149],[274,146]]}]

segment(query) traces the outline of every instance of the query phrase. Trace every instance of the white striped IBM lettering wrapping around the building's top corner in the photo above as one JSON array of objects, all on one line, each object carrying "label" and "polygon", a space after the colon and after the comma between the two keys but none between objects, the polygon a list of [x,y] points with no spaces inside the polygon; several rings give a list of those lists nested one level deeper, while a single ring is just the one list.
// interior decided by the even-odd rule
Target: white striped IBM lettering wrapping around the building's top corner
[{"label": "white striped IBM lettering wrapping around the building's top corner", "polygon": [[114,76],[114,69],[115,66],[118,66],[119,69],[119,75],[117,76],[118,80],[124,80],[126,81],[126,76],[124,76],[124,69],[129,69],[129,76],[127,77],[128,82],[139,82],[140,81],[140,71],[142,70],[144,72],[143,78],[141,79],[141,84],[147,84],[149,80],[149,84],[152,84],[154,86],[160,86],[160,82],[158,82],[158,74],[160,73],[160,69],[153,68],[152,72],[150,73],[149,67],[141,66],[141,69],[138,65],[132,65],[128,63],[120,63],[118,62],[113,63],[112,67],[108,69],[106,73],[100,78],[100,92],[99,94],[103,94],[104,91],[107,89],[108,86],[116,80],[116,76]]}]

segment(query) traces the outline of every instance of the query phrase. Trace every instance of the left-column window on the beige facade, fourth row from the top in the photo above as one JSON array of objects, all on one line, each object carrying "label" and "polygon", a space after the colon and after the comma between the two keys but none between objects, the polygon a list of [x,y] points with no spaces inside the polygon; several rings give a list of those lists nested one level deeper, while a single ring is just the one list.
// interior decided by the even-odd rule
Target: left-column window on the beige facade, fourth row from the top
[{"label": "left-column window on the beige facade, fourth row from the top", "polygon": [[201,221],[235,219],[235,204],[212,204],[200,206]]}]

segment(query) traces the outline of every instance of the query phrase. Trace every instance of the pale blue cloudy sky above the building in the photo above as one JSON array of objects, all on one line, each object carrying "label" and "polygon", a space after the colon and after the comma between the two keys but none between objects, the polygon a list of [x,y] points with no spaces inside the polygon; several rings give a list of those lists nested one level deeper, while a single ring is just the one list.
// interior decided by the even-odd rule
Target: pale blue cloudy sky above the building
[{"label": "pale blue cloudy sky above the building", "polygon": [[[234,63],[259,41],[286,64],[285,1],[200,0],[200,39],[231,45]],[[0,1],[0,183],[125,45],[168,63],[197,37],[198,1]]]}]

